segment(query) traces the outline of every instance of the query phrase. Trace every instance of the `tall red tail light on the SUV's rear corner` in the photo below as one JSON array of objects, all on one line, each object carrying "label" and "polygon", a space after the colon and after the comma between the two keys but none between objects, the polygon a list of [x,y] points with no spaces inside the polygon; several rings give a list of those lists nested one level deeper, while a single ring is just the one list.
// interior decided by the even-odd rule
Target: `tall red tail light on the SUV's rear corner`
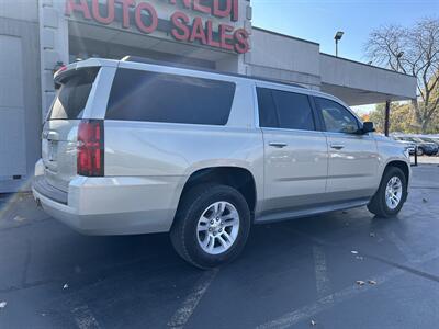
[{"label": "tall red tail light on the SUV's rear corner", "polygon": [[103,177],[103,121],[83,120],[78,127],[77,172],[87,177]]}]

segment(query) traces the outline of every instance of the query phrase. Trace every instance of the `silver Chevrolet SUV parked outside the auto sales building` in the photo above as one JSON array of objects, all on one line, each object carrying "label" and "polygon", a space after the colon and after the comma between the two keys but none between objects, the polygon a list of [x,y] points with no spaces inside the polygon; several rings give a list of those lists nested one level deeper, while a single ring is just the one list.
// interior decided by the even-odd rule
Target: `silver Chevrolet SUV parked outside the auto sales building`
[{"label": "silver Chevrolet SUV parked outside the auto sales building", "polygon": [[34,197],[88,235],[170,231],[216,266],[252,224],[368,205],[396,215],[408,154],[340,100],[299,86],[88,59],[55,75]]}]

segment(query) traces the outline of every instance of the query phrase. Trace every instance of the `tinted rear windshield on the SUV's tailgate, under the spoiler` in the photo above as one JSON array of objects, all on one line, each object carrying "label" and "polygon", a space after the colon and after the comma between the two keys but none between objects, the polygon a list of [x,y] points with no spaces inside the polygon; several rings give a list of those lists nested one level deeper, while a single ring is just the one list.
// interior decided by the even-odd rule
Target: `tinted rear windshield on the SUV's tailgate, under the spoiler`
[{"label": "tinted rear windshield on the SUV's tailgate, under the spoiler", "polygon": [[98,71],[99,68],[97,67],[79,69],[72,76],[63,80],[48,118],[82,118],[83,109]]}]

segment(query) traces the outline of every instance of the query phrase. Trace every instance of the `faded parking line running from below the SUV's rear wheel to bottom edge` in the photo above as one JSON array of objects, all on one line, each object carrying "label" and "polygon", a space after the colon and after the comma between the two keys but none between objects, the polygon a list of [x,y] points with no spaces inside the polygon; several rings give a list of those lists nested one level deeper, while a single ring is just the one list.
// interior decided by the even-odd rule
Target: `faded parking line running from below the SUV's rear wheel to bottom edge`
[{"label": "faded parking line running from below the SUV's rear wheel to bottom edge", "polygon": [[207,292],[209,286],[215,280],[217,274],[218,269],[214,269],[212,271],[205,272],[203,276],[201,276],[201,279],[196,282],[195,287],[184,298],[181,306],[171,317],[171,320],[168,322],[168,327],[177,329],[183,328],[185,326],[189,318],[195,310],[200,300],[203,298],[204,294]]}]

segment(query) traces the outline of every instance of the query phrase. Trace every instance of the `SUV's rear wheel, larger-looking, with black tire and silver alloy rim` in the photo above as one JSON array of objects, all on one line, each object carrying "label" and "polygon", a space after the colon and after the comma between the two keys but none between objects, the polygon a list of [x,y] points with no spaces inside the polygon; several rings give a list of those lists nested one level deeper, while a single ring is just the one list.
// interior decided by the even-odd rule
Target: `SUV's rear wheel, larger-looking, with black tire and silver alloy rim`
[{"label": "SUV's rear wheel, larger-looking, with black tire and silver alloy rim", "polygon": [[200,269],[212,269],[235,259],[250,231],[250,209],[235,189],[203,184],[182,195],[171,242],[176,251]]}]

